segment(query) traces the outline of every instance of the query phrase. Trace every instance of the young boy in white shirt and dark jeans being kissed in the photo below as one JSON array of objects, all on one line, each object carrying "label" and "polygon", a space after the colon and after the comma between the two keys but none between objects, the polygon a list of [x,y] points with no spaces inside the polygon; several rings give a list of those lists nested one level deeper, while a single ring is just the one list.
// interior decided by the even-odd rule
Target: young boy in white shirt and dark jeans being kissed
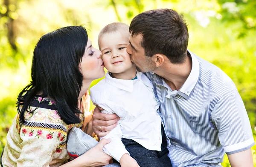
[{"label": "young boy in white shirt and dark jeans being kissed", "polygon": [[103,150],[121,167],[171,167],[157,113],[159,101],[149,79],[136,71],[126,52],[129,35],[128,25],[111,23],[98,37],[108,73],[90,88],[91,100],[105,109],[103,113],[116,113],[120,117],[117,127],[104,137],[111,142]]}]

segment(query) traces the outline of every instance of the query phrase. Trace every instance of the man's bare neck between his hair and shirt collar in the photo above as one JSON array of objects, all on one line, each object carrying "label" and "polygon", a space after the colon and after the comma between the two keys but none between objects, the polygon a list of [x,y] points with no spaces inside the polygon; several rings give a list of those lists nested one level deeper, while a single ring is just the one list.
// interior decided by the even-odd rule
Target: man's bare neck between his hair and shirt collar
[{"label": "man's bare neck between his hair and shirt collar", "polygon": [[187,56],[185,62],[182,64],[172,64],[169,61],[153,71],[155,74],[163,77],[167,85],[174,90],[179,90],[185,83],[192,69],[192,59]]}]

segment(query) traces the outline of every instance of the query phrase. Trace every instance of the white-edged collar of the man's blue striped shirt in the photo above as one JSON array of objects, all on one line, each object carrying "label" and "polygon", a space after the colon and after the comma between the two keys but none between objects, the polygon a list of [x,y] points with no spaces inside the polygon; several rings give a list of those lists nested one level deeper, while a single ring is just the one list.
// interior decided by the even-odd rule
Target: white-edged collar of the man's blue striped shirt
[{"label": "white-edged collar of the man's blue striped shirt", "polygon": [[195,55],[188,50],[188,53],[190,54],[192,58],[192,69],[191,72],[186,79],[185,83],[182,85],[179,91],[171,91],[171,88],[166,84],[164,79],[161,76],[158,76],[157,74],[154,74],[154,82],[158,85],[162,85],[166,88],[168,88],[168,94],[166,95],[167,98],[170,98],[170,96],[174,96],[176,94],[179,94],[180,96],[183,96],[185,99],[189,99],[189,95],[192,93],[193,89],[195,88],[196,83],[198,82],[199,75],[200,75],[200,65],[198,62],[198,59],[195,57]]}]

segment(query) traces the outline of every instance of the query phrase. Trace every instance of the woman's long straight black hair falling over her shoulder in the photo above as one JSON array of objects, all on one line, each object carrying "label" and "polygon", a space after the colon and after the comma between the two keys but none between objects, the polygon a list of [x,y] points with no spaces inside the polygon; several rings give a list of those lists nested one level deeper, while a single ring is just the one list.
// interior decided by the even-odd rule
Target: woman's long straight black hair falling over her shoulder
[{"label": "woman's long straight black hair falling over her shoulder", "polygon": [[[43,35],[35,46],[31,68],[32,81],[19,93],[17,108],[20,121],[35,96],[55,101],[58,114],[66,124],[80,123],[78,96],[83,75],[79,64],[87,45],[87,31],[82,26],[68,26]],[[22,108],[20,110],[20,106]]]}]

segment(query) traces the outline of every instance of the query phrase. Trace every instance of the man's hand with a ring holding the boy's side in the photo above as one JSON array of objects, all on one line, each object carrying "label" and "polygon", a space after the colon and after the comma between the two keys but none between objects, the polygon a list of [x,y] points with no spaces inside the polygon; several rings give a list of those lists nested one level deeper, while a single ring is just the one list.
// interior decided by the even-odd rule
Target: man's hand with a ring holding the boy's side
[{"label": "man's hand with a ring holding the boy's side", "polygon": [[120,118],[116,114],[101,113],[101,110],[96,106],[93,111],[93,131],[97,136],[104,137],[118,125]]}]

